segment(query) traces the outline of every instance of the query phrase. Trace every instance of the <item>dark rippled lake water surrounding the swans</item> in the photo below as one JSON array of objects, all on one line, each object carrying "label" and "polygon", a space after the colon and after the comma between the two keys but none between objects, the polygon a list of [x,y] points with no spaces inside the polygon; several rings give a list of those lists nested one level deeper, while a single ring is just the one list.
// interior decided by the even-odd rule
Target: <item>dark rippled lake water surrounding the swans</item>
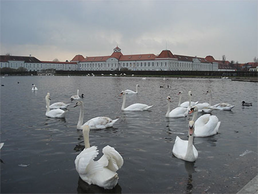
[{"label": "dark rippled lake water surrounding the swans", "polygon": [[[18,84],[18,82],[20,82]],[[31,91],[32,84],[38,91]],[[257,83],[230,79],[89,76],[6,76],[1,77],[1,193],[236,193],[257,175]],[[122,112],[122,90],[126,106],[154,105],[150,111]],[[160,88],[160,86],[164,86]],[[113,190],[83,182],[74,160],[83,149],[82,131],[76,129],[79,107],[70,97],[84,94],[84,122],[97,116],[119,118],[114,127],[90,131],[90,144],[114,147],[124,158]],[[176,136],[186,140],[186,118],[165,118],[167,96],[172,107],[182,102],[228,102],[232,111],[214,110],[221,121],[219,134],[195,137],[199,152],[196,162],[173,156]],[[71,103],[65,119],[45,116],[45,95],[51,104]],[[241,102],[253,106],[242,107]],[[200,116],[200,115],[198,115]]]}]

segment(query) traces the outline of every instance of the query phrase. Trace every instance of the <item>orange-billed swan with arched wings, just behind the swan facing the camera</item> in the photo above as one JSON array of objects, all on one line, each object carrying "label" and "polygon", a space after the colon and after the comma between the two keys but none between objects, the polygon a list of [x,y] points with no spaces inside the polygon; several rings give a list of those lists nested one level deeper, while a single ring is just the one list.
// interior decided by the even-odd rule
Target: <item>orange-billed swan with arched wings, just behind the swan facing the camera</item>
[{"label": "orange-billed swan with arched wings, just behind the swan facing the camera", "polygon": [[192,112],[192,120],[195,121],[195,137],[208,137],[217,134],[221,122],[215,115],[204,114],[197,119],[198,107],[196,106],[190,109],[189,114]]}]

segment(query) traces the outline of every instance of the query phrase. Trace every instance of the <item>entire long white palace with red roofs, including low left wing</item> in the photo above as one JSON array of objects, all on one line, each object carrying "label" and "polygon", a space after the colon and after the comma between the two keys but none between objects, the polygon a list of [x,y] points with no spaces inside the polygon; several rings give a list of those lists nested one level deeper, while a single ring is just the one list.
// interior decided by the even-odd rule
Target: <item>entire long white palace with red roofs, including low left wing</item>
[{"label": "entire long white palace with red roofs, including low left wing", "polygon": [[46,69],[64,71],[112,71],[127,68],[132,71],[220,71],[220,61],[212,56],[192,57],[174,55],[170,50],[163,50],[159,55],[136,54],[123,55],[116,46],[110,56],[84,58],[76,55],[71,61],[41,61],[29,56],[0,56],[1,68],[26,68],[27,71],[41,72]]}]

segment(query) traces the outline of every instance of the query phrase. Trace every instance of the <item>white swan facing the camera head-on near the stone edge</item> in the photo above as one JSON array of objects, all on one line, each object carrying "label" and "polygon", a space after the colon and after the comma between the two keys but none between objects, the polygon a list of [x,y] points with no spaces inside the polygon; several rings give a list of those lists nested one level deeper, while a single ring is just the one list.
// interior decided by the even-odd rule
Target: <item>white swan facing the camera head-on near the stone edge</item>
[{"label": "white swan facing the camera head-on near the stone edge", "polygon": [[185,161],[194,162],[198,158],[198,151],[193,145],[193,134],[194,134],[194,121],[189,121],[188,130],[188,141],[182,140],[176,136],[176,140],[173,146],[173,154],[175,157]]}]

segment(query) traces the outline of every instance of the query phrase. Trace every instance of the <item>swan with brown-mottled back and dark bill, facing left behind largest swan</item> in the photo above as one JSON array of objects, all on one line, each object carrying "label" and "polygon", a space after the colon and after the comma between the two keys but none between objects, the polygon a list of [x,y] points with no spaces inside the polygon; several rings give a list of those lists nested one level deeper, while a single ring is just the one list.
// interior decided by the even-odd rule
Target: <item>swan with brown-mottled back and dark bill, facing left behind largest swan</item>
[{"label": "swan with brown-mottled back and dark bill, facing left behind largest swan", "polygon": [[83,129],[83,126],[88,125],[90,129],[105,129],[108,127],[112,127],[114,123],[118,119],[110,119],[109,117],[95,117],[83,124],[83,117],[84,117],[84,104],[82,101],[76,102],[76,106],[80,106],[80,115],[79,115],[79,120],[77,123],[77,129]]}]

